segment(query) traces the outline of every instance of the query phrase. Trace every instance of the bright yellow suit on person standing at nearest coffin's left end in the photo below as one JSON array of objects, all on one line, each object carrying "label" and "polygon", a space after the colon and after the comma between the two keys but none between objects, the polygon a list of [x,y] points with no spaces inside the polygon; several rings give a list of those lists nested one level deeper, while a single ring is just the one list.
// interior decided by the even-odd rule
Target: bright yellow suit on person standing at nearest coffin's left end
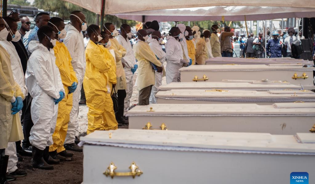
[{"label": "bright yellow suit on person standing at nearest coffin's left end", "polygon": [[[108,71],[111,67],[110,56],[105,56],[105,48],[89,40],[85,49],[86,68],[83,87],[88,112],[87,134],[106,127],[106,94],[108,92]],[[108,95],[107,95],[108,96]],[[117,125],[114,127],[117,128]]]}]

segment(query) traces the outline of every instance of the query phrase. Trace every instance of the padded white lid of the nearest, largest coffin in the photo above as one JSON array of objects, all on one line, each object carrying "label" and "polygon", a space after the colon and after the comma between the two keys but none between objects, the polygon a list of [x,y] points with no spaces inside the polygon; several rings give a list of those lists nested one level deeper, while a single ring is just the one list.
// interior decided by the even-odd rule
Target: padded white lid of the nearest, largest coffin
[{"label": "padded white lid of the nearest, largest coffin", "polygon": [[[266,133],[118,129],[95,131],[80,139],[94,144],[117,143],[121,145],[315,153],[315,144],[301,143],[302,141],[297,141],[293,135]],[[314,142],[314,139],[315,134],[309,134],[307,137],[308,142]]]}]

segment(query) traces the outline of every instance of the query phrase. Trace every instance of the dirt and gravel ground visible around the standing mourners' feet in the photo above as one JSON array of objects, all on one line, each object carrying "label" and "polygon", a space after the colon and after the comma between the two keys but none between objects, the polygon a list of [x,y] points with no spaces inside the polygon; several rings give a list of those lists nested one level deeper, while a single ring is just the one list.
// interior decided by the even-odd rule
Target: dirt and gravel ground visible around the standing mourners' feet
[{"label": "dirt and gravel ground visible around the standing mourners' feet", "polygon": [[[136,73],[137,74],[137,73]],[[134,83],[137,75],[134,75]],[[166,84],[166,79],[163,77],[163,84]],[[136,87],[133,89],[133,94],[130,99],[130,105],[138,104],[138,94]],[[77,122],[79,123],[79,133],[86,135],[88,128],[88,113],[89,108],[86,105],[79,107],[79,115]],[[128,128],[128,126],[120,127]],[[27,176],[18,177],[16,181],[10,181],[12,184],[81,184],[83,181],[83,153],[74,152],[71,161],[64,161],[58,165],[54,165],[54,170],[33,169],[31,157],[23,157],[24,160],[18,162],[18,168],[27,172]]]}]

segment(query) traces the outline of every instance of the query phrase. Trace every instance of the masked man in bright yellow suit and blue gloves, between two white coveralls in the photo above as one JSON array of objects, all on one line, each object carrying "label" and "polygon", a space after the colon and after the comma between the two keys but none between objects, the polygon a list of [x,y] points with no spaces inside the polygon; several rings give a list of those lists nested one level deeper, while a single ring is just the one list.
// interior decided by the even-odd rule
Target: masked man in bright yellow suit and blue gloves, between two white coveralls
[{"label": "masked man in bright yellow suit and blue gloves, between two white coveralls", "polygon": [[[54,32],[56,33],[55,39],[64,39],[66,37],[65,23],[61,18],[52,17],[49,20],[48,25],[54,29]],[[71,64],[72,58],[66,45],[56,41],[54,54],[56,57],[56,65],[59,68],[61,81],[65,89],[65,98],[58,104],[57,123],[53,134],[54,144],[49,146],[49,154],[54,159],[63,161],[66,159],[65,157],[73,156],[73,153],[66,151],[63,144],[66,139],[70,111],[72,109],[72,93],[77,88],[78,80],[76,73],[73,71]],[[53,162],[49,164],[53,164]]]}]

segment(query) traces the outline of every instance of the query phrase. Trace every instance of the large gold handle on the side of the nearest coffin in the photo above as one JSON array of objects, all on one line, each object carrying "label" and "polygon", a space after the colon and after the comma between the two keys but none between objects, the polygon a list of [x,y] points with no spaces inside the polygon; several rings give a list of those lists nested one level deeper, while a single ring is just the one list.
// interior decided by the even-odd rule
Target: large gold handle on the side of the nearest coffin
[{"label": "large gold handle on the side of the nearest coffin", "polygon": [[143,172],[139,169],[135,162],[132,162],[129,167],[131,172],[115,172],[116,169],[117,167],[115,166],[115,164],[111,162],[111,164],[109,164],[108,168],[103,174],[106,175],[106,177],[108,175],[111,176],[112,179],[114,178],[114,176],[132,176],[133,178],[135,178],[135,176],[140,176],[143,174]]}]

